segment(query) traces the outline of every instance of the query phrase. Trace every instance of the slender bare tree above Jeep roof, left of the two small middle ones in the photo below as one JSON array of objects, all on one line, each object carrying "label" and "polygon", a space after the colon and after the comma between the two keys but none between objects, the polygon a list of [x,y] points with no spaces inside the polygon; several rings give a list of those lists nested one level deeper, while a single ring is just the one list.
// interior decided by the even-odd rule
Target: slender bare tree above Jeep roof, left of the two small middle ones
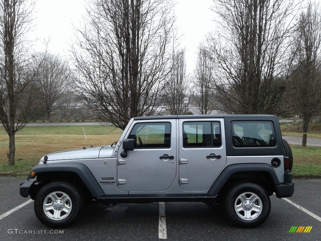
[{"label": "slender bare tree above Jeep roof, left of the two small middle ones", "polygon": [[184,98],[187,94],[187,69],[185,49],[173,48],[171,72],[166,84],[166,106],[171,115],[185,113]]}]

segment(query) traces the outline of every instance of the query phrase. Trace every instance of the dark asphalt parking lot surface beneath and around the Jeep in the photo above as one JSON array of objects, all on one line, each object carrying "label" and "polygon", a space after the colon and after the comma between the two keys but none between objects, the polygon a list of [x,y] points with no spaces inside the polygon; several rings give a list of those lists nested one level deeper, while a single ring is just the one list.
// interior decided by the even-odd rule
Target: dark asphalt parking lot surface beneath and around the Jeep
[{"label": "dark asphalt parking lot surface beneath and around the Jeep", "polygon": [[[51,229],[39,222],[33,201],[19,195],[24,179],[0,177],[0,240],[321,240],[321,179],[295,179],[295,192],[289,200],[312,212],[315,217],[291,203],[271,198],[271,213],[257,228],[236,228],[221,206],[204,203],[165,203],[166,236],[160,233],[159,203],[90,204],[70,228]],[[319,220],[318,220],[319,219]],[[312,226],[310,233],[289,233],[292,226]]]}]

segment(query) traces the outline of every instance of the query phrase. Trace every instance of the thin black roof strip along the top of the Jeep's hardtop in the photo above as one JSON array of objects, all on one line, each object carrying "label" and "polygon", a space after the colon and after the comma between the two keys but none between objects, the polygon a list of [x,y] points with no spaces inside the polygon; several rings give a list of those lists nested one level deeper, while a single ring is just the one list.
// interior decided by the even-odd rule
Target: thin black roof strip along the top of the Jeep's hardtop
[{"label": "thin black roof strip along the top of the Jeep's hardtop", "polygon": [[134,120],[162,120],[162,119],[201,119],[201,118],[275,118],[275,115],[236,115],[236,114],[217,114],[217,115],[153,115],[138,116]]}]

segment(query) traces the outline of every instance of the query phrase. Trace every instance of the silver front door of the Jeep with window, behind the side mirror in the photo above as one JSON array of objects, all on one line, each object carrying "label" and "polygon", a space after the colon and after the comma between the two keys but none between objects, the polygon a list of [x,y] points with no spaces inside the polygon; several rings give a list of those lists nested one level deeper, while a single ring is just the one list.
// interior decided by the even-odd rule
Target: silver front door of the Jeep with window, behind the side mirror
[{"label": "silver front door of the Jeep with window, behind the side mirror", "polygon": [[[136,123],[135,123],[136,122]],[[121,191],[165,191],[176,176],[176,120],[134,121],[127,135],[134,150],[117,155],[117,184]]]}]

